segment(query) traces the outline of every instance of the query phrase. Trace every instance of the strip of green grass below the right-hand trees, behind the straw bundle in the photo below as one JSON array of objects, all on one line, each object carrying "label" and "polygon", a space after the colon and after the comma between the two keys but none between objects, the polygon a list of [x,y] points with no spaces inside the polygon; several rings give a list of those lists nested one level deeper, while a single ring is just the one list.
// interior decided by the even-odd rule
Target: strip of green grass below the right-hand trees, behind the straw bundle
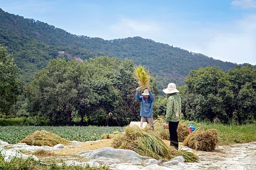
[{"label": "strip of green grass below the right-hand trees, behind the straw bundle", "polygon": [[256,124],[236,124],[231,123],[229,125],[221,123],[209,123],[194,121],[183,121],[185,124],[193,124],[196,128],[202,127],[206,129],[217,129],[218,133],[218,145],[228,145],[233,143],[243,143],[256,141]]}]

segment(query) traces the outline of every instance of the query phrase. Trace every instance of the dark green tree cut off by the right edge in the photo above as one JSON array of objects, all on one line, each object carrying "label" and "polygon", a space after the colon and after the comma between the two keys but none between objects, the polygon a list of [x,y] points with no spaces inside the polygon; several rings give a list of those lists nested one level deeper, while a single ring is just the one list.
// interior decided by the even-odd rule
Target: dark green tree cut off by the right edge
[{"label": "dark green tree cut off by the right edge", "polygon": [[234,93],[233,119],[242,123],[256,118],[256,69],[252,65],[236,65],[227,71]]}]

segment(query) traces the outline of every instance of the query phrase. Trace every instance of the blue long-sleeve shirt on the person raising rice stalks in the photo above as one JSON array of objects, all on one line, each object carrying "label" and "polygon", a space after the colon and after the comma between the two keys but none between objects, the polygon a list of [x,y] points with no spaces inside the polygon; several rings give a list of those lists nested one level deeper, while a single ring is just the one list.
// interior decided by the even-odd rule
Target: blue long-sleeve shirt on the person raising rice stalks
[{"label": "blue long-sleeve shirt on the person raising rice stalks", "polygon": [[146,99],[144,95],[140,96],[140,91],[136,91],[136,99],[141,101],[141,113],[140,116],[152,117],[153,116],[153,101],[155,99],[151,91],[149,91],[150,97]]}]

